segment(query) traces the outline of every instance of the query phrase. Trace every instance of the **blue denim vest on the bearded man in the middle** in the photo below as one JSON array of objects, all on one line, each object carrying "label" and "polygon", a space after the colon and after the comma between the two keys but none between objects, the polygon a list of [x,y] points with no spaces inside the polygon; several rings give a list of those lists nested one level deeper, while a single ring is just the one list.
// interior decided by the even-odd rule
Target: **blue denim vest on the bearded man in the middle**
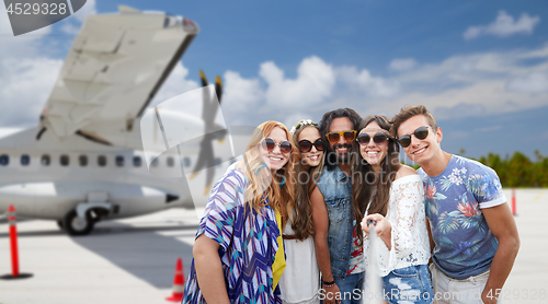
[{"label": "blue denim vest on the bearded man in the middle", "polygon": [[352,210],[352,182],[339,166],[323,169],[318,188],[323,195],[329,215],[328,246],[333,278],[346,278],[354,212]]}]

